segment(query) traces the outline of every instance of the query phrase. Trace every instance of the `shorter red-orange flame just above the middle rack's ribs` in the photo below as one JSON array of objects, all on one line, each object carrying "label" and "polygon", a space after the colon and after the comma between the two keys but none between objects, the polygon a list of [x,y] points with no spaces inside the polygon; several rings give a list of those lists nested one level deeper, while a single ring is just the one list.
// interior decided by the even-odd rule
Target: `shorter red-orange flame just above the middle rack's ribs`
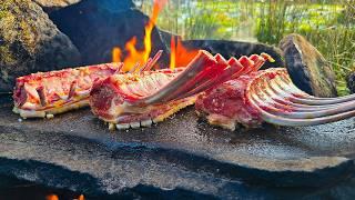
[{"label": "shorter red-orange flame just above the middle rack's ribs", "polygon": [[199,49],[187,49],[180,38],[171,38],[170,68],[186,67],[189,62],[199,53]]}]

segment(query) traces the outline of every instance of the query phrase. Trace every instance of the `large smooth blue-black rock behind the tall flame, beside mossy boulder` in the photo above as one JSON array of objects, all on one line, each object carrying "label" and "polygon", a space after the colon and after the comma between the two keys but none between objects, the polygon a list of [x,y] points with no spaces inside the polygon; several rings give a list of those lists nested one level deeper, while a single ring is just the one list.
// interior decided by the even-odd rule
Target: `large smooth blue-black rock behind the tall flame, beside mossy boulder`
[{"label": "large smooth blue-black rock behind the tall flame, beside mossy boulder", "polygon": [[[132,7],[129,0],[87,0],[53,11],[50,18],[78,47],[83,64],[101,63],[112,61],[112,49],[124,49],[133,37],[136,37],[138,49],[143,49],[149,17]],[[151,56],[160,49],[166,52],[156,28],[152,31],[152,41]]]}]

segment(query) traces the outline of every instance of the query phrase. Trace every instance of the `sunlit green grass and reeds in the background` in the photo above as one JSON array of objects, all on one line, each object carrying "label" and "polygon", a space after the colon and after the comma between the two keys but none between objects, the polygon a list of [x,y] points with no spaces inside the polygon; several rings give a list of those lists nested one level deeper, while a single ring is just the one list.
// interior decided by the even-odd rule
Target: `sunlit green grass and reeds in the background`
[{"label": "sunlit green grass and reeds in the background", "polygon": [[[136,0],[150,14],[152,0]],[[337,89],[355,69],[355,0],[170,0],[158,26],[184,39],[260,41],[277,46],[305,36],[332,63]]]}]

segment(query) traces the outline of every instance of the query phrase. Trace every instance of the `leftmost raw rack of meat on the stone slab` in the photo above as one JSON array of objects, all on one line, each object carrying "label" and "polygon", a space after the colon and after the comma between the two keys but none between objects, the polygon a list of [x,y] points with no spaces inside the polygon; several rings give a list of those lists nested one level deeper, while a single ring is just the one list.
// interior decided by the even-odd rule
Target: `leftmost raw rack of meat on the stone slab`
[{"label": "leftmost raw rack of meat on the stone slab", "polygon": [[22,118],[44,118],[88,106],[93,82],[121,68],[122,63],[106,63],[19,77],[13,111]]}]

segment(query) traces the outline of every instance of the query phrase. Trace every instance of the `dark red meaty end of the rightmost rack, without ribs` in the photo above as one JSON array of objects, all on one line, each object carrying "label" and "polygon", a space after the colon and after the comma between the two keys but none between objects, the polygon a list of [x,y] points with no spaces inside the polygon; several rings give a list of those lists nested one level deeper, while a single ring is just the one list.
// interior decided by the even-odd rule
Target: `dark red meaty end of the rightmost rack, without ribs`
[{"label": "dark red meaty end of the rightmost rack, without ribs", "polygon": [[211,124],[230,130],[235,130],[237,123],[260,126],[263,122],[260,113],[245,98],[247,83],[258,73],[242,76],[199,94],[195,102],[197,114],[205,117]]}]

